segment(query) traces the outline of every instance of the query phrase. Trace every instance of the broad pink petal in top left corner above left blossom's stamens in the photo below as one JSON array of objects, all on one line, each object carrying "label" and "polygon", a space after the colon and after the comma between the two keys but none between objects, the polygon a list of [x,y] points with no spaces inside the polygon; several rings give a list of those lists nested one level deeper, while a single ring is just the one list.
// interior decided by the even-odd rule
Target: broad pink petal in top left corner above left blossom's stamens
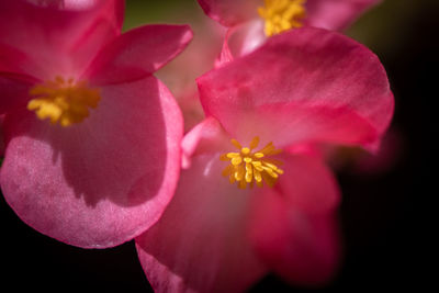
[{"label": "broad pink petal in top left corner above left blossom's stamens", "polygon": [[35,65],[26,67],[25,74],[36,78],[76,76],[103,44],[120,33],[122,14],[121,0],[68,0],[46,4],[1,1],[0,56],[8,54],[2,52],[4,46],[21,53],[20,58],[7,55],[10,63],[18,63],[13,72],[23,72],[21,65],[25,57]]}]

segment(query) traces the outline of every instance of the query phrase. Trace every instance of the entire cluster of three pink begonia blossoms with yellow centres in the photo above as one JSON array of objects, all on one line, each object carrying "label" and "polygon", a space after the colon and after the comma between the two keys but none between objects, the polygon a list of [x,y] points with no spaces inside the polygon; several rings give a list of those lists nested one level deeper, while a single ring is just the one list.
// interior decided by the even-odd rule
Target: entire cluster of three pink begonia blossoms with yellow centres
[{"label": "entire cluster of three pink begonia blossoms with yellow centres", "polygon": [[199,0],[226,30],[184,133],[154,74],[189,26],[122,33],[121,0],[0,0],[7,202],[69,245],[135,239],[157,292],[240,292],[269,271],[326,283],[340,191],[316,149],[373,153],[393,115],[378,57],[336,32],[376,2]]}]

